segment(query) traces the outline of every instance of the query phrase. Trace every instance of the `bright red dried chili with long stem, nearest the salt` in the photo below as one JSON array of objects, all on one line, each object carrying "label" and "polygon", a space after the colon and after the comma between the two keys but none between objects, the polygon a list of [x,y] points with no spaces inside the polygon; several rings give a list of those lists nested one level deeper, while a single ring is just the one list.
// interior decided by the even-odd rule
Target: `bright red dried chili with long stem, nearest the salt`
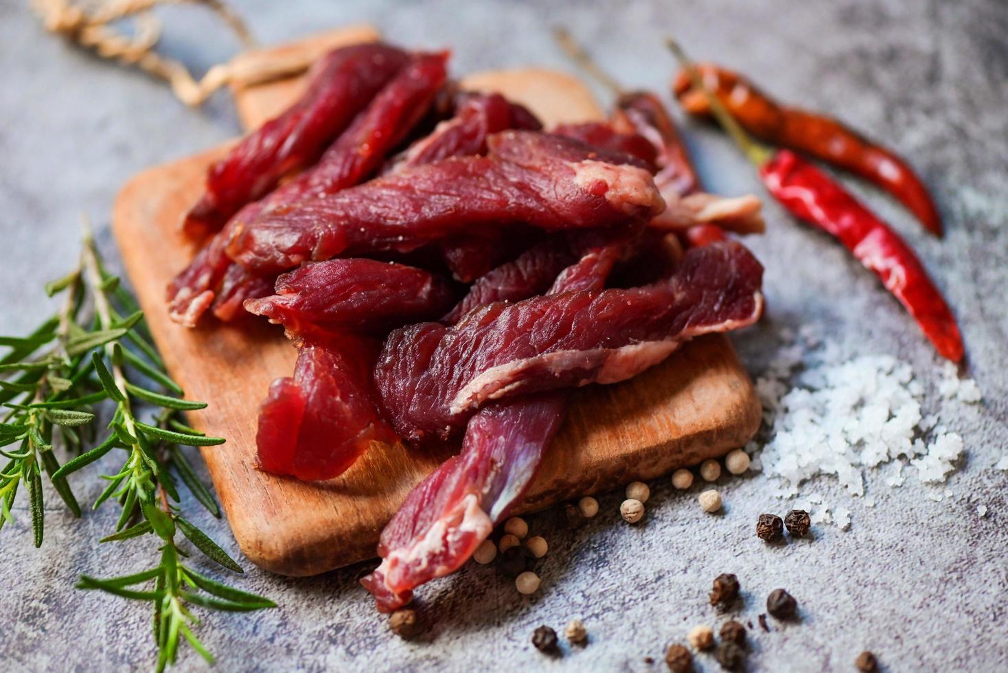
[{"label": "bright red dried chili with long stem, nearest the salt", "polygon": [[962,360],[963,338],[956,318],[913,250],[827,173],[791,151],[771,150],[753,141],[727,106],[707,89],[678,44],[669,40],[668,46],[695,88],[708,97],[712,113],[759,168],[770,193],[795,217],[839,239],[882,280],[938,353],[953,362]]}]

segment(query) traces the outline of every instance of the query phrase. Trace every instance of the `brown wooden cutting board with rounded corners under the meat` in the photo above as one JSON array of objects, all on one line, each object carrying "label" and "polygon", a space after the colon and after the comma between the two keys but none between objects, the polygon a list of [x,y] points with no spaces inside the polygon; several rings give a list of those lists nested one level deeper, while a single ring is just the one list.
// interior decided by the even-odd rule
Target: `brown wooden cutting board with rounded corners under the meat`
[{"label": "brown wooden cutting board with rounded corners under the meat", "polygon": [[[376,39],[354,27],[244,57],[304,51]],[[569,76],[535,69],[473,75],[470,89],[503,93],[546,124],[602,116],[588,90]],[[299,78],[235,91],[246,128],[288,106]],[[119,193],[113,228],[154,341],[187,397],[210,402],[191,414],[193,426],[228,438],[203,449],[235,538],[267,570],[310,575],[374,556],[382,527],[409,490],[449,455],[375,445],[341,478],[299,483],[256,469],[256,414],[273,379],[292,371],[294,349],[265,321],[210,322],[187,329],[168,319],[164,289],[194,250],[179,234],[182,213],[199,197],[218,147],[141,172]],[[664,364],[627,383],[577,391],[568,421],[553,441],[522,511],[674,467],[723,455],[744,444],[760,422],[760,407],[745,370],[721,335],[697,340]]]}]

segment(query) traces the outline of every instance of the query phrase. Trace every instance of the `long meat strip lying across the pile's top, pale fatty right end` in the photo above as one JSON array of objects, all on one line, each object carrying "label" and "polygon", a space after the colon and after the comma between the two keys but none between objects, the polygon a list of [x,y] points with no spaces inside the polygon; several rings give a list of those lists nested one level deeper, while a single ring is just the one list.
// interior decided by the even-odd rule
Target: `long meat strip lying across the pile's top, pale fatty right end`
[{"label": "long meat strip lying across the pile's top, pale fatty right end", "polygon": [[488,144],[487,157],[408,168],[267,214],[228,253],[265,273],[339,254],[406,252],[485,223],[587,229],[650,220],[664,208],[650,173],[627,155],[533,131]]}]

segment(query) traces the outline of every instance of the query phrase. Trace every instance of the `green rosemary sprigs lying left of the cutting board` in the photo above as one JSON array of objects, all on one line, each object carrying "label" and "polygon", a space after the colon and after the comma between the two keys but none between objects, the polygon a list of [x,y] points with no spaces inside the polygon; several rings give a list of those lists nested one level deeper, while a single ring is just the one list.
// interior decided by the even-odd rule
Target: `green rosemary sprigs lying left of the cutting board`
[{"label": "green rosemary sprigs lying left of the cutting board", "polygon": [[[28,492],[34,544],[41,546],[42,473],[74,516],[80,517],[68,477],[113,450],[122,451],[121,466],[102,476],[109,484],[94,504],[98,508],[114,501],[120,511],[115,530],[101,542],[152,535],[160,542],[159,561],[120,577],[82,575],[77,586],[153,604],[158,671],[175,662],[180,640],[213,662],[193,632],[198,624],[191,612],[194,605],[232,612],[275,607],[268,598],[211,579],[180,560],[188,555],[179,546],[185,538],[217,564],[242,572],[227,552],[181,516],[177,505],[180,480],[197,502],[221,516],[180,446],[211,446],[224,439],[207,436],[176,417],[179,411],[207,405],[183,399],[181,388],[167,376],[149,342],[143,313],[102,264],[90,233],[85,234],[78,268],[48,283],[45,290],[50,296],[64,294],[59,310],[27,336],[0,336],[0,347],[9,349],[0,358],[0,403],[6,409],[0,422],[0,454],[9,460],[0,472],[0,527],[13,521],[11,509],[23,487]],[[159,410],[144,422],[138,413],[150,407]],[[106,408],[111,417],[99,439],[98,417]],[[60,464],[54,443],[76,455]],[[85,445],[90,448],[84,450]]]}]

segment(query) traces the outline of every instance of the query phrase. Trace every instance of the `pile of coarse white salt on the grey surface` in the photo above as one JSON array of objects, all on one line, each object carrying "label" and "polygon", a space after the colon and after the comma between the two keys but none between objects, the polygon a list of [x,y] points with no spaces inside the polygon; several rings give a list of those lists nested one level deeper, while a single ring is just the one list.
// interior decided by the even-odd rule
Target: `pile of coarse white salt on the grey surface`
[{"label": "pile of coarse white salt on the grey surface", "polygon": [[[775,496],[797,499],[794,507],[809,511],[813,523],[833,522],[847,530],[850,511],[803,493],[802,484],[833,476],[860,497],[866,469],[886,465],[890,487],[903,485],[907,465],[920,483],[932,486],[956,469],[965,452],[963,437],[941,424],[938,412],[924,414],[925,388],[908,364],[890,356],[841,361],[812,325],[796,336],[785,330],[782,338],[784,346],[756,379],[764,430],[746,447],[754,454],[753,467],[781,483]],[[980,402],[977,384],[961,380],[952,363],[939,375],[942,409]],[[927,493],[938,502],[952,496],[949,490]],[[864,504],[874,507],[875,501],[866,498]]]}]

